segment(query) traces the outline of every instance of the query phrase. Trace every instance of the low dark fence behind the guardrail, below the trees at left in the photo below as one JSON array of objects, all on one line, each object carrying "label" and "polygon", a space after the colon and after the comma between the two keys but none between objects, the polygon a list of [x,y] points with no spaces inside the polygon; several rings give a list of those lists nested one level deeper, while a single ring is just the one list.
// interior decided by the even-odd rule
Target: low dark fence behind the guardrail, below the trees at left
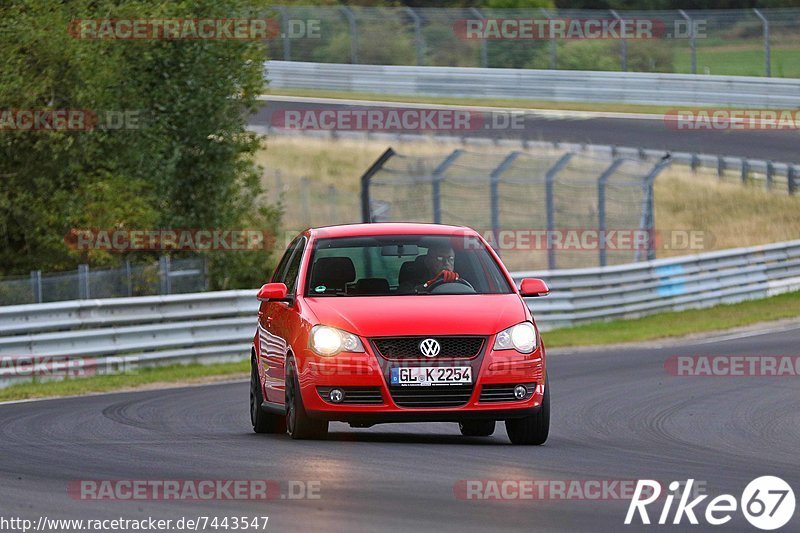
[{"label": "low dark fence behind the guardrail, below the trees at left", "polygon": [[79,265],[77,272],[43,273],[35,270],[26,277],[0,279],[0,305],[120,298],[157,294],[182,294],[208,290],[205,257],[171,259],[157,263],[124,263],[122,268],[90,269]]}]

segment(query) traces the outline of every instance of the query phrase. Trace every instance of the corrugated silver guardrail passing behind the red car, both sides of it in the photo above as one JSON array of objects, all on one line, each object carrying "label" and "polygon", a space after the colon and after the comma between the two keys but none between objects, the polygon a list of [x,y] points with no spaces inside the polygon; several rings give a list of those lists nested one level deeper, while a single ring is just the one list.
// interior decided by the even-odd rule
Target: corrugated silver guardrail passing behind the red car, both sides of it
[{"label": "corrugated silver guardrail passing behind the red car, both sides of it", "polygon": [[[800,289],[800,241],[602,268],[516,272],[552,290],[531,299],[542,330],[764,298]],[[30,380],[9,361],[157,366],[249,356],[255,291],[81,300],[0,308],[0,387]],[[668,325],[665,325],[668,327]],[[94,362],[93,362],[94,361]],[[105,369],[105,370],[104,370]]]}]

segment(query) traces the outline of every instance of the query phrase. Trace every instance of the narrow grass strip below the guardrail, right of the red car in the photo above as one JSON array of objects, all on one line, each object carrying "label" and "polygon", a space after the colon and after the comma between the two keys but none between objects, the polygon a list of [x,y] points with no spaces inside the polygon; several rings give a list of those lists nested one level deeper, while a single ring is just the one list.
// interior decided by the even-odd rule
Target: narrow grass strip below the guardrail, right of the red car
[{"label": "narrow grass strip below the guardrail, right of the red car", "polygon": [[616,344],[681,337],[797,316],[800,316],[800,291],[706,309],[554,329],[542,333],[542,337],[549,348]]}]

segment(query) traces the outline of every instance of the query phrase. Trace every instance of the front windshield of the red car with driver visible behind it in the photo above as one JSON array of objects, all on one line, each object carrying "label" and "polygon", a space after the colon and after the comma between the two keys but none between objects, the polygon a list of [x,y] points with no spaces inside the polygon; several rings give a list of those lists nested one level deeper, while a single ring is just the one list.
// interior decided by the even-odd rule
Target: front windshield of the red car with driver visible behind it
[{"label": "front windshield of the red car with driver visible behind it", "polygon": [[306,296],[512,292],[483,243],[463,235],[320,239],[307,281]]}]

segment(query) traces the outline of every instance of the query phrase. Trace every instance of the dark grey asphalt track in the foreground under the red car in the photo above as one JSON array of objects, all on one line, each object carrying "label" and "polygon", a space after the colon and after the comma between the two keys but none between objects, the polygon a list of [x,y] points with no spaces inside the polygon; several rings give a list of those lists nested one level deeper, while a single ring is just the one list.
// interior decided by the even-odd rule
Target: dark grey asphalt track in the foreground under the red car
[{"label": "dark grey asphalt track in the foreground under the red car", "polygon": [[[244,382],[1,405],[0,506],[6,517],[34,521],[269,516],[268,531],[675,529],[624,526],[627,500],[465,500],[454,486],[693,478],[712,495],[738,499],[750,480],[777,475],[797,491],[800,378],[675,377],[664,363],[678,354],[797,355],[799,335],[794,324],[714,342],[554,352],[552,431],[543,447],[512,446],[502,424],[490,438],[462,437],[455,424],[334,424],[322,442],[256,435]],[[289,480],[306,480],[319,482],[320,497],[81,501],[67,493],[80,479],[270,479],[284,495]],[[797,526],[795,514],[785,530]],[[701,518],[692,528],[709,529],[723,527]],[[738,511],[724,529],[754,530]]]}]

